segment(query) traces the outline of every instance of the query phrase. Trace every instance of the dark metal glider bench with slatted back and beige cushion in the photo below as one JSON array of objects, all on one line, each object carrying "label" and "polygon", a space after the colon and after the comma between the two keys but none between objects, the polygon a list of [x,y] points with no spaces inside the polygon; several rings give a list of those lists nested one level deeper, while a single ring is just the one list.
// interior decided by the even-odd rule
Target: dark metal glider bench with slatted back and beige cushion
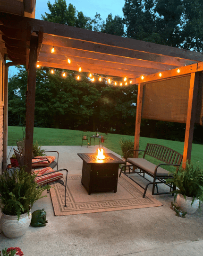
[{"label": "dark metal glider bench with slatted back and beige cushion", "polygon": [[[130,151],[144,152],[143,158],[128,158],[127,155],[129,155]],[[177,171],[178,171],[178,168],[183,159],[183,155],[179,154],[177,151],[175,151],[169,147],[161,146],[161,145],[157,145],[157,144],[150,144],[150,143],[147,144],[145,150],[134,150],[134,149],[128,150],[127,155],[126,155],[126,165],[121,167],[119,177],[120,177],[121,173],[123,173],[127,177],[129,177],[132,181],[137,183],[140,187],[142,187],[144,189],[143,197],[145,197],[147,188],[150,184],[153,185],[152,186],[152,195],[169,193],[169,192],[159,192],[159,190],[158,190],[159,183],[166,183],[167,179],[172,178],[172,175],[169,173],[169,171],[161,168],[160,166],[161,165],[177,166]],[[159,165],[154,165],[151,162],[149,162],[148,160],[144,159],[144,157],[146,155],[156,158],[163,163],[160,163]],[[127,165],[127,163],[129,163],[130,165]],[[127,172],[127,168],[128,168],[128,172]],[[139,174],[144,179],[149,181],[149,183],[147,183],[145,187],[142,186],[140,183],[138,183],[137,181],[132,179],[129,175],[127,175],[127,174],[132,174],[132,173]],[[151,176],[153,178],[153,182],[150,181],[149,179],[147,179],[144,174],[148,174],[149,176]],[[168,185],[170,187],[170,192],[171,192],[172,184],[166,184],[166,185]],[[156,193],[154,192],[155,186],[156,186],[156,190],[157,190]],[[176,187],[173,185],[173,190],[175,190],[175,189],[176,189]]]}]

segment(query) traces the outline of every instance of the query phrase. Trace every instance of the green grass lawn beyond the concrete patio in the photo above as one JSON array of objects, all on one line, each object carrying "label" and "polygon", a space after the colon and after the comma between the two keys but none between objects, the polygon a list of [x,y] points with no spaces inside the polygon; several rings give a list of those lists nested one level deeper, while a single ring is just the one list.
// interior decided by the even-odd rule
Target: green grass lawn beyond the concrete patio
[{"label": "green grass lawn beyond the concrete patio", "polygon": [[[24,128],[25,130],[25,128]],[[16,146],[16,140],[23,138],[22,127],[8,127],[8,146]],[[92,131],[87,132],[88,137],[95,134]],[[134,136],[111,134],[105,135],[100,133],[105,138],[104,146],[117,153],[118,155],[122,154],[119,141],[123,140],[132,140],[134,141]],[[34,142],[38,141],[40,146],[79,146],[82,142],[82,131],[77,130],[65,130],[65,129],[52,129],[52,128],[34,128]],[[90,138],[88,140],[90,143]],[[171,141],[164,139],[155,139],[140,137],[140,149],[145,149],[147,143],[155,143],[163,146],[168,146],[180,154],[183,154],[184,142]],[[93,139],[91,141],[93,145]],[[95,139],[95,145],[98,144],[98,139]],[[193,144],[192,147],[192,163],[200,162],[203,164],[203,145]],[[156,163],[154,163],[156,164]]]}]

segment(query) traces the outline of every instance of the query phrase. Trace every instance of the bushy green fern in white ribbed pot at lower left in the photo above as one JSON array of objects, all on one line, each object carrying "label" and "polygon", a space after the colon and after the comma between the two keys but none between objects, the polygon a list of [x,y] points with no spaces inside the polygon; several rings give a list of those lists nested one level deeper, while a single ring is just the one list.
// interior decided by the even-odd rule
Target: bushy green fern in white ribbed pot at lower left
[{"label": "bushy green fern in white ribbed pot at lower left", "polygon": [[24,167],[0,175],[0,226],[8,238],[25,234],[31,222],[30,210],[34,202],[44,197],[42,192],[50,188],[49,185],[38,188],[35,176],[26,173]]}]

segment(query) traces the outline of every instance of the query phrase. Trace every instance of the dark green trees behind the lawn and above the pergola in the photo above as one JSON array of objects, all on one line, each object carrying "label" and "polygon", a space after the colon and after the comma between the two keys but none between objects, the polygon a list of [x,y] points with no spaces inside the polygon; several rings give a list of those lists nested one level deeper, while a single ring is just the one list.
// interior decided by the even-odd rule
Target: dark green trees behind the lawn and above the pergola
[{"label": "dark green trees behind the lawn and above the pergola", "polygon": [[[110,13],[102,20],[77,11],[66,0],[55,0],[43,20],[80,27],[147,42],[203,52],[202,0],[126,0],[124,18]],[[8,125],[25,122],[27,73],[21,67],[8,86]],[[135,131],[137,87],[111,86],[90,82],[85,76],[76,82],[75,72],[67,78],[61,70],[52,75],[46,67],[37,70],[35,126],[89,129],[133,135]],[[184,140],[185,124],[142,120],[141,136]],[[195,126],[195,142],[203,142],[202,127]]]}]

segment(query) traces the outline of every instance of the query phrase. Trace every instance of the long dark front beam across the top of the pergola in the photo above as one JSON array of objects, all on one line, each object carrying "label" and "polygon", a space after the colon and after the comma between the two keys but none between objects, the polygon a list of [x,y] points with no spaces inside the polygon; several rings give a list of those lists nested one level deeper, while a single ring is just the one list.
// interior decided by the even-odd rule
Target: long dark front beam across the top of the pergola
[{"label": "long dark front beam across the top of the pergola", "polygon": [[59,37],[74,38],[79,41],[86,41],[101,45],[109,45],[113,47],[121,47],[124,49],[132,49],[135,51],[146,52],[156,55],[172,56],[177,59],[187,59],[194,61],[203,61],[203,56],[198,52],[189,51],[170,46],[161,46],[154,43],[139,41],[131,38],[118,37],[114,35],[95,32],[83,28],[70,27],[58,23],[51,23],[44,20],[21,17],[13,14],[0,12],[0,22],[11,28],[18,29],[27,26],[34,27],[35,31],[39,31],[40,27],[44,27],[44,33]]}]

